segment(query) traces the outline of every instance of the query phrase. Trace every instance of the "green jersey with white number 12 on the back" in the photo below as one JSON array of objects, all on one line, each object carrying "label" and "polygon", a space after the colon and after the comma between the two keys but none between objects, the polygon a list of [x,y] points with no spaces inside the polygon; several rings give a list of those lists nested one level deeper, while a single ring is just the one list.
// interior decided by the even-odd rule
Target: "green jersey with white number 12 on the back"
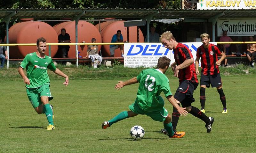
[{"label": "green jersey with white number 12 on the back", "polygon": [[172,95],[169,79],[159,69],[145,69],[137,77],[140,83],[136,101],[144,111],[158,111],[164,106],[162,100],[158,100],[163,91],[165,97]]}]

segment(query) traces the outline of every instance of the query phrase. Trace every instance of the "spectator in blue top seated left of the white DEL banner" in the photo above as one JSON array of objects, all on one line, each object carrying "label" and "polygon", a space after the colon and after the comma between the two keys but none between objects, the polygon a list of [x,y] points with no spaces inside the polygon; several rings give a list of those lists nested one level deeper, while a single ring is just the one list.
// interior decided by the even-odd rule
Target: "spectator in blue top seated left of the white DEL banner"
[{"label": "spectator in blue top seated left of the white DEL banner", "polygon": [[[113,35],[111,42],[124,42],[123,35],[121,34],[121,30],[117,30],[116,34]],[[120,48],[121,55],[124,57],[124,45],[110,45],[110,57],[114,57],[115,50]]]}]

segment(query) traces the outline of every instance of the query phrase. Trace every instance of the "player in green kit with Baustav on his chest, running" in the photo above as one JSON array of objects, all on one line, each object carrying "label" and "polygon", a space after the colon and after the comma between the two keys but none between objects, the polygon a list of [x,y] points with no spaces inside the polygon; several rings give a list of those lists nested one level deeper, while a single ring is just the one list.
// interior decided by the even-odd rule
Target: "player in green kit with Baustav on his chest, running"
[{"label": "player in green kit with Baustav on his chest, running", "polygon": [[[68,85],[68,76],[57,69],[52,62],[52,58],[45,55],[46,40],[41,37],[36,40],[37,51],[25,56],[19,67],[19,73],[24,79],[27,88],[28,99],[32,106],[35,108],[36,113],[45,113],[49,126],[47,130],[53,130],[53,109],[49,104],[52,100],[50,92],[50,79],[47,75],[47,68],[61,77],[65,77],[63,84]],[[24,74],[23,69],[27,69],[27,76]]]}]

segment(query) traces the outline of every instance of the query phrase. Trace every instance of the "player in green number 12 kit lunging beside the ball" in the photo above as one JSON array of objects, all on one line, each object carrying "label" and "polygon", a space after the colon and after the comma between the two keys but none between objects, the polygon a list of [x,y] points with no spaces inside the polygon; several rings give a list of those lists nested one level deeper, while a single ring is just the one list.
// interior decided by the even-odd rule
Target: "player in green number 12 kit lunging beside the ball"
[{"label": "player in green number 12 kit lunging beside the ball", "polygon": [[188,112],[185,108],[177,105],[172,96],[169,80],[164,75],[170,65],[170,59],[167,57],[160,57],[157,62],[157,69],[145,69],[140,72],[138,77],[134,77],[128,81],[119,81],[115,89],[119,90],[125,85],[140,83],[137,92],[137,98],[133,104],[129,106],[131,111],[124,111],[116,115],[111,120],[102,123],[102,129],[110,127],[112,124],[124,120],[128,117],[134,117],[138,114],[145,114],[156,121],[164,121],[164,128],[169,133],[169,138],[181,138],[185,132],[173,132],[171,115],[164,108],[164,99],[160,96],[164,92],[165,97],[173,105],[174,108],[182,115],[186,116]]}]

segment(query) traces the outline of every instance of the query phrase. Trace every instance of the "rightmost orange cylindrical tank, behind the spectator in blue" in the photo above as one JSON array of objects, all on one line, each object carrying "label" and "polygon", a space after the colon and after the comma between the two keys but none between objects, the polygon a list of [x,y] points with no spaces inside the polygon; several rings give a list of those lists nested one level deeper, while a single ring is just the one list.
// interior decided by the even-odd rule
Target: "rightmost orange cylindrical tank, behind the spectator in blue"
[{"label": "rightmost orange cylindrical tank, behind the spectator in blue", "polygon": [[[99,24],[95,25],[99,29]],[[124,21],[107,21],[100,23],[100,34],[102,42],[111,42],[112,36],[116,34],[117,30],[121,30],[124,41],[127,40],[127,27],[124,27]],[[144,42],[144,36],[139,29],[140,42]],[[129,27],[129,42],[137,42],[137,26]],[[109,45],[103,45],[101,53],[104,57],[110,56]],[[115,50],[114,57],[121,57],[120,48]]]}]

